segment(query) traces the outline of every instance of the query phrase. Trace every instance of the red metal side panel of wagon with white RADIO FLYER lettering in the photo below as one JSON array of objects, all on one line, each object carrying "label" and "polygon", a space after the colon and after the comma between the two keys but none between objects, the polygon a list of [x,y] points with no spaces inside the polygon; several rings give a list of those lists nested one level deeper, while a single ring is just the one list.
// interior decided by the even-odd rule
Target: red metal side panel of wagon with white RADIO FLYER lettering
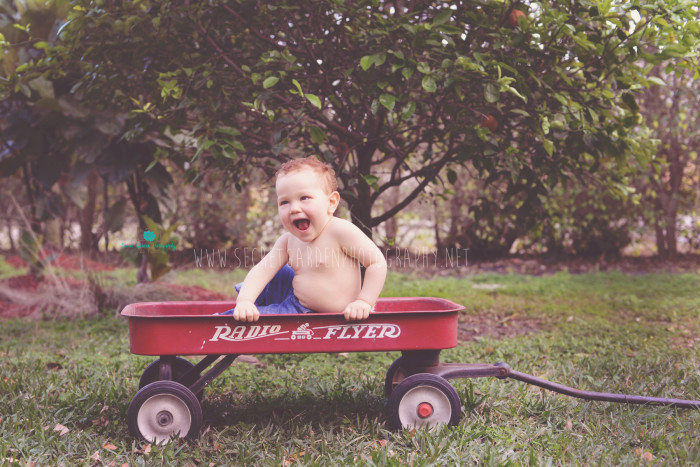
[{"label": "red metal side panel of wagon with white RADIO FLYER lettering", "polygon": [[140,355],[366,352],[445,349],[457,345],[457,312],[377,313],[346,322],[336,315],[129,320],[131,352]]}]

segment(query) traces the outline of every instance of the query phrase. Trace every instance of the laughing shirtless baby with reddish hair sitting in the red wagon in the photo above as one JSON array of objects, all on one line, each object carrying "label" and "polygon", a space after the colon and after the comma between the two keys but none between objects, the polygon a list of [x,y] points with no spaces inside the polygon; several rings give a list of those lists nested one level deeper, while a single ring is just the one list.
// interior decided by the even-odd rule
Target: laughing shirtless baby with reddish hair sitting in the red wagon
[{"label": "laughing shirtless baby with reddish hair sitting in the red wagon", "polygon": [[295,159],[279,169],[275,187],[286,232],[246,276],[233,318],[316,311],[366,319],[384,286],[386,260],[359,228],[333,217],[340,202],[333,169],[315,157]]}]

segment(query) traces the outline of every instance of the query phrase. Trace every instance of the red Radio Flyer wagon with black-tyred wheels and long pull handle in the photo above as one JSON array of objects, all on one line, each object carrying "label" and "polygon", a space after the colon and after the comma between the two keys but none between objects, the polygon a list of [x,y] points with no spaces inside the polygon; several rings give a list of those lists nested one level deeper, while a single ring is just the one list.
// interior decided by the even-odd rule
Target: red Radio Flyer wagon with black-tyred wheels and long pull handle
[{"label": "red Radio Flyer wagon with black-tyred wheels and long pull handle", "polygon": [[[455,425],[461,417],[454,378],[513,378],[570,396],[611,402],[700,408],[700,401],[579,391],[511,370],[505,363],[441,363],[440,351],[457,345],[457,314],[441,298],[382,298],[367,320],[311,313],[263,315],[235,321],[216,315],[234,302],[134,303],[129,319],[131,352],[159,358],[141,375],[127,411],[135,437],[164,442],[196,437],[204,388],[241,354],[401,351],[385,378],[389,422],[395,428]],[[180,355],[202,355],[197,363]]]}]

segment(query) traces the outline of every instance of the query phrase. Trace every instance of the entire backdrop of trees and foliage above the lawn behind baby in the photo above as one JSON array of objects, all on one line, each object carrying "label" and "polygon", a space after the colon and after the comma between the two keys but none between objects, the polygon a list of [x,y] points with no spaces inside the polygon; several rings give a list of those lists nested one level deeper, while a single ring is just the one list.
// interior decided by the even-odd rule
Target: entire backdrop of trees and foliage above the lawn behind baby
[{"label": "entire backdrop of trees and foliage above the lawn behind baby", "polygon": [[118,250],[149,222],[179,250],[261,245],[275,167],[315,154],[384,248],[697,253],[698,14],[2,0],[3,245]]}]

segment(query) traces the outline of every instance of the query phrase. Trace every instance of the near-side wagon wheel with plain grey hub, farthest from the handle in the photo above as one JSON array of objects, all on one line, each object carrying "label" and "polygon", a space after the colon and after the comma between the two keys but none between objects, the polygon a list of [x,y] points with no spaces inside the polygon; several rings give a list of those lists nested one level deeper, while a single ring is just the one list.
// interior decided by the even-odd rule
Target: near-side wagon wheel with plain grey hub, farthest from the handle
[{"label": "near-side wagon wheel with plain grey hub, farthest from the handle", "polygon": [[188,388],[156,381],[136,393],[126,412],[129,432],[148,442],[166,443],[171,436],[195,438],[202,427],[202,406]]}]

